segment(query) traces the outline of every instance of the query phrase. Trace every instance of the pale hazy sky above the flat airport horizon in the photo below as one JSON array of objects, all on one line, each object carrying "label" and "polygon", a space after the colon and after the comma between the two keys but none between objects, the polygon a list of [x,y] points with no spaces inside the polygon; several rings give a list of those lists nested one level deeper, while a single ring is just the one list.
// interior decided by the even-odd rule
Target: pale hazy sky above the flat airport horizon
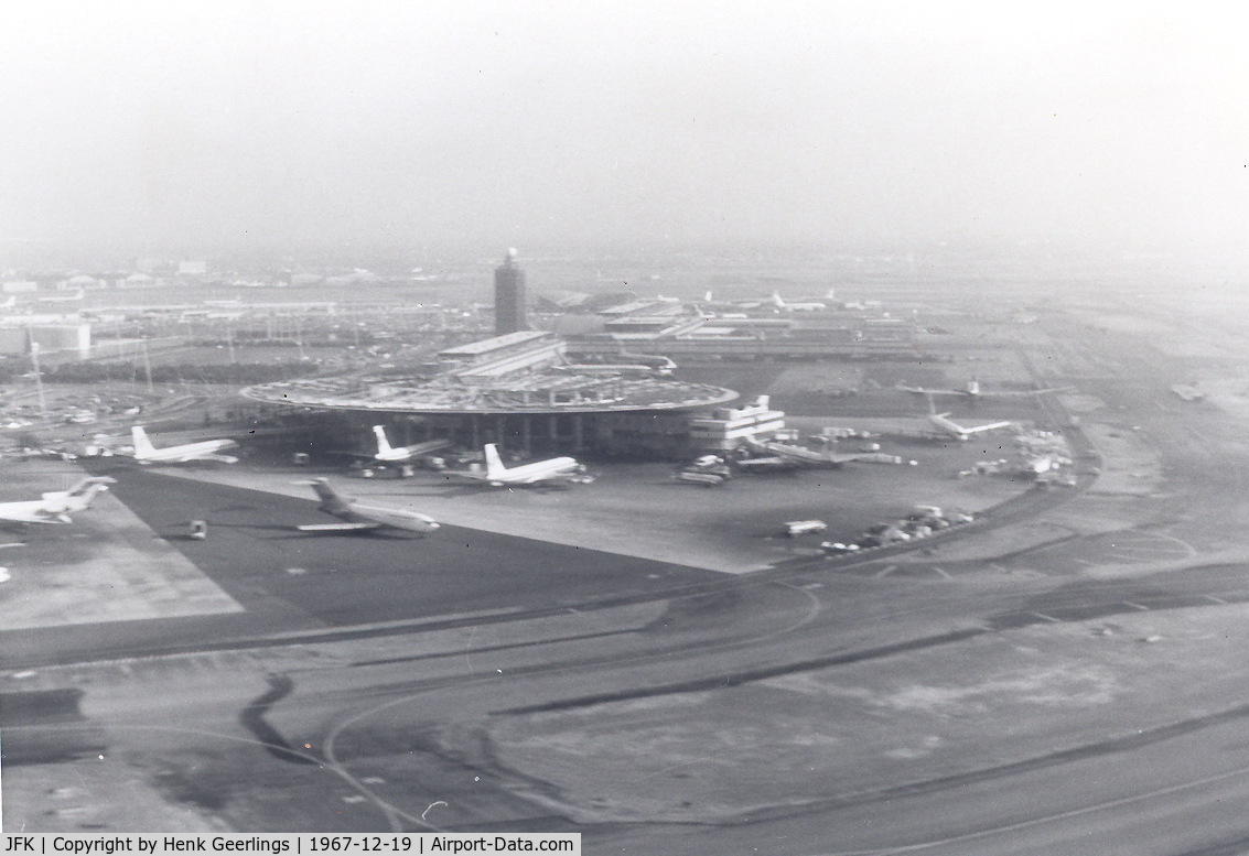
[{"label": "pale hazy sky above the flat airport horizon", "polygon": [[4,4],[0,240],[1249,243],[1243,16],[990,9]]}]

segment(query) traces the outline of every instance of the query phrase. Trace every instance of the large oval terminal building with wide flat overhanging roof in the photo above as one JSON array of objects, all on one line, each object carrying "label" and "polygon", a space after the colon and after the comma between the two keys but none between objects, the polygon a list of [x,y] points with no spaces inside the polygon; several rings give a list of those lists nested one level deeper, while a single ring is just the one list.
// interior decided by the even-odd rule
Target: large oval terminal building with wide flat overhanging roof
[{"label": "large oval terminal building with wide flat overhanging roof", "polygon": [[396,443],[447,438],[470,449],[606,457],[688,454],[699,448],[692,419],[738,397],[644,366],[572,364],[565,347],[552,333],[522,329],[442,351],[427,377],[286,381],[242,396],[297,408],[340,447],[342,437],[367,443],[370,426],[386,424]]}]

